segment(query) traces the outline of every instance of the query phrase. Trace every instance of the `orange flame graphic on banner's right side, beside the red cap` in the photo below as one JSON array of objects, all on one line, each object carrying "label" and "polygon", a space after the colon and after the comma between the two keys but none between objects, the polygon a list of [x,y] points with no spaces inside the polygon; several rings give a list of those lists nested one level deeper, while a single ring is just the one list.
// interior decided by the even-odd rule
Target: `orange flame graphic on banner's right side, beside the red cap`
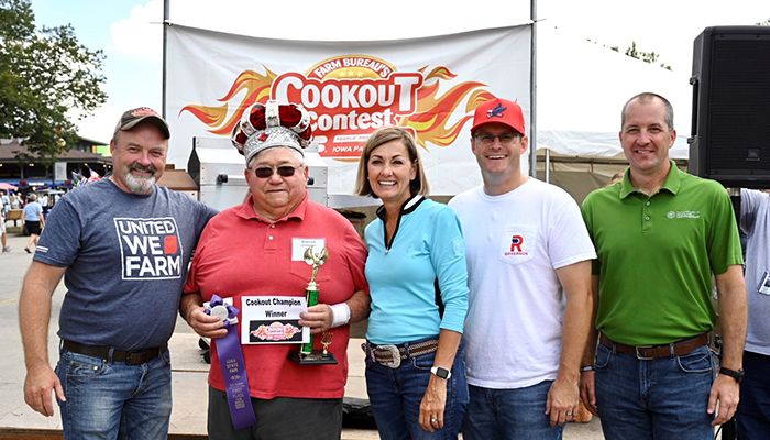
[{"label": "orange flame graphic on banner's right side, beside the red cap", "polygon": [[[425,73],[426,67],[418,72]],[[438,66],[425,77],[424,86],[417,90],[417,109],[414,114],[400,118],[399,125],[410,127],[415,130],[416,141],[424,148],[428,148],[430,142],[443,147],[450,145],[460,134],[465,123],[473,118],[472,113],[484,101],[494,96],[486,90],[479,89],[486,86],[479,81],[464,81],[455,85],[446,94],[438,96],[441,80],[450,80],[457,77],[449,68]],[[471,94],[465,105],[464,114],[460,120],[447,127],[449,119],[460,102]]]}]

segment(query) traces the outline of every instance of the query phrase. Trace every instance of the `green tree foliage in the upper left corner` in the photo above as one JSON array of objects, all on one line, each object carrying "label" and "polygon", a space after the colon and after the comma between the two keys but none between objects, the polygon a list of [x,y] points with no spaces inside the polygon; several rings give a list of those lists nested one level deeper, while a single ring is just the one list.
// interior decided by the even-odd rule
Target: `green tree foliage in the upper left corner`
[{"label": "green tree foliage in the upper left corner", "polygon": [[30,0],[0,0],[0,138],[21,138],[41,157],[74,145],[76,127],[105,102],[105,55],[72,25],[36,28]]}]

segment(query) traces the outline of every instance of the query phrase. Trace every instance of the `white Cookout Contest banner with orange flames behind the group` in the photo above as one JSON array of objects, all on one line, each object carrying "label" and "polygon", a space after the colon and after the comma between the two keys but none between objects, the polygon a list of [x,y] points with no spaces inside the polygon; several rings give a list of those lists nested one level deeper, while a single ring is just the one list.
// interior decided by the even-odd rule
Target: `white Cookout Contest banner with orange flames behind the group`
[{"label": "white Cookout Contest banner with orange flames behind the group", "polygon": [[353,191],[358,158],[380,127],[409,128],[432,195],[481,183],[471,154],[473,110],[517,100],[530,121],[528,25],[427,38],[309,42],[168,28],[168,162],[186,168],[194,136],[229,136],[245,108],[301,103],[329,166],[330,195]]}]

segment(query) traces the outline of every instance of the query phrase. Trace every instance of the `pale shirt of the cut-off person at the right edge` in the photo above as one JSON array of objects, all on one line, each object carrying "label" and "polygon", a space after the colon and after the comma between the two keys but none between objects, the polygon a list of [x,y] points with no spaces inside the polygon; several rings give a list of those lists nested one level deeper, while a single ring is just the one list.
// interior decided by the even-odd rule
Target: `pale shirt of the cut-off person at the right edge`
[{"label": "pale shirt of the cut-off person at the right edge", "polygon": [[749,326],[746,351],[770,355],[770,295],[759,292],[760,284],[770,283],[766,275],[770,273],[770,194],[740,190],[740,229],[748,235],[746,289]]}]

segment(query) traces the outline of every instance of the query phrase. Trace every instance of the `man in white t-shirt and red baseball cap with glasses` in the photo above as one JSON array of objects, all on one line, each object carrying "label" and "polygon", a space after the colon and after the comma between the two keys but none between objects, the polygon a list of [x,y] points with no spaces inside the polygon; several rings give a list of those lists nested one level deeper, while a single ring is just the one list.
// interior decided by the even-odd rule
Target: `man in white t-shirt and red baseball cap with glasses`
[{"label": "man in white t-shirt and red baseball cap with glasses", "polygon": [[449,202],[470,285],[466,440],[561,439],[579,407],[596,253],[570,195],[521,172],[527,145],[516,102],[479,106],[471,148],[484,185]]}]

